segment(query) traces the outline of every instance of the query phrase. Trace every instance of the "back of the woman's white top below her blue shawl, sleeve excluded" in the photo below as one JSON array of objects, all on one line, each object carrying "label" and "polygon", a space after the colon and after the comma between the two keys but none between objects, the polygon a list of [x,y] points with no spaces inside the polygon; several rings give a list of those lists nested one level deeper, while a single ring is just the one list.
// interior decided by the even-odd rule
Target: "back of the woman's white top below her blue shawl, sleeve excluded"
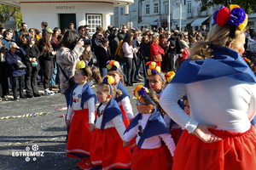
[{"label": "back of the woman's white top below her blue shawl, sleeve excluded", "polygon": [[190,114],[196,122],[213,124],[219,129],[241,133],[251,126],[248,116],[252,118],[255,112],[255,108],[250,105],[255,103],[255,83],[242,83],[230,77],[218,77],[189,83],[186,88]]}]

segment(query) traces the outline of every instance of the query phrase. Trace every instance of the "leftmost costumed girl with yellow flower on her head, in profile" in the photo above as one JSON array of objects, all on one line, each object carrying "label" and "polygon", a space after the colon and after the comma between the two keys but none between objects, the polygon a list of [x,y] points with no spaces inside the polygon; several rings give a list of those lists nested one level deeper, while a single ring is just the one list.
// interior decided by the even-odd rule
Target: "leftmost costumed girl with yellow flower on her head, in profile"
[{"label": "leftmost costumed girl with yellow flower on her head, in profile", "polygon": [[90,169],[90,140],[94,129],[96,95],[87,82],[90,67],[81,60],[77,69],[74,76],[76,84],[70,94],[67,111],[67,156],[82,159],[77,165],[82,169]]}]

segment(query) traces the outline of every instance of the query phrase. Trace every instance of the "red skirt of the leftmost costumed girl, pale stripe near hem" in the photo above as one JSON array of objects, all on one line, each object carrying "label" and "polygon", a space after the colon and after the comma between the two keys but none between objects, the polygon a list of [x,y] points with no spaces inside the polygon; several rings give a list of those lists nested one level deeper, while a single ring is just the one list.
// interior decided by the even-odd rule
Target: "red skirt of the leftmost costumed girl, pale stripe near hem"
[{"label": "red skirt of the leftmost costumed girl, pale stripe near hem", "polygon": [[74,111],[67,138],[68,157],[85,158],[90,156],[92,133],[89,127],[89,110]]}]

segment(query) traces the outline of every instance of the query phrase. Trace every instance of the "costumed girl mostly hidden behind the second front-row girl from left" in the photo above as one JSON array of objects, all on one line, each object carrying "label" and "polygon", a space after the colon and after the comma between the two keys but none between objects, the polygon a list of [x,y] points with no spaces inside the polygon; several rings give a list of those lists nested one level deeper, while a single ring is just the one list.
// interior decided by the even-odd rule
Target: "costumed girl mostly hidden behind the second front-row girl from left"
[{"label": "costumed girl mostly hidden behind the second front-row girl from left", "polygon": [[120,70],[119,62],[116,60],[108,60],[107,62],[108,75],[113,77],[114,86],[116,89],[119,89],[122,92],[122,95],[115,97],[115,100],[118,102],[120,110],[123,113],[125,127],[128,127],[130,122],[133,119],[133,112],[130,103],[130,96],[126,91],[123,85],[123,74]]}]

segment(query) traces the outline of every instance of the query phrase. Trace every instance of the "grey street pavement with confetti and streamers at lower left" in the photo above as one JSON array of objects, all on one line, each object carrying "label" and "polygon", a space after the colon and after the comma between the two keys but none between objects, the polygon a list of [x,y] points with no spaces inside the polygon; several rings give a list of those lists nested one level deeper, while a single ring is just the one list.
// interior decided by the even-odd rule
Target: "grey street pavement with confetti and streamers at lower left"
[{"label": "grey street pavement with confetti and streamers at lower left", "polygon": [[[135,84],[136,85],[136,84]],[[137,109],[132,90],[134,114]],[[43,94],[43,88],[39,87]],[[93,88],[96,91],[96,88]],[[0,102],[0,170],[76,170],[79,159],[66,156],[67,106],[64,95]]]}]

